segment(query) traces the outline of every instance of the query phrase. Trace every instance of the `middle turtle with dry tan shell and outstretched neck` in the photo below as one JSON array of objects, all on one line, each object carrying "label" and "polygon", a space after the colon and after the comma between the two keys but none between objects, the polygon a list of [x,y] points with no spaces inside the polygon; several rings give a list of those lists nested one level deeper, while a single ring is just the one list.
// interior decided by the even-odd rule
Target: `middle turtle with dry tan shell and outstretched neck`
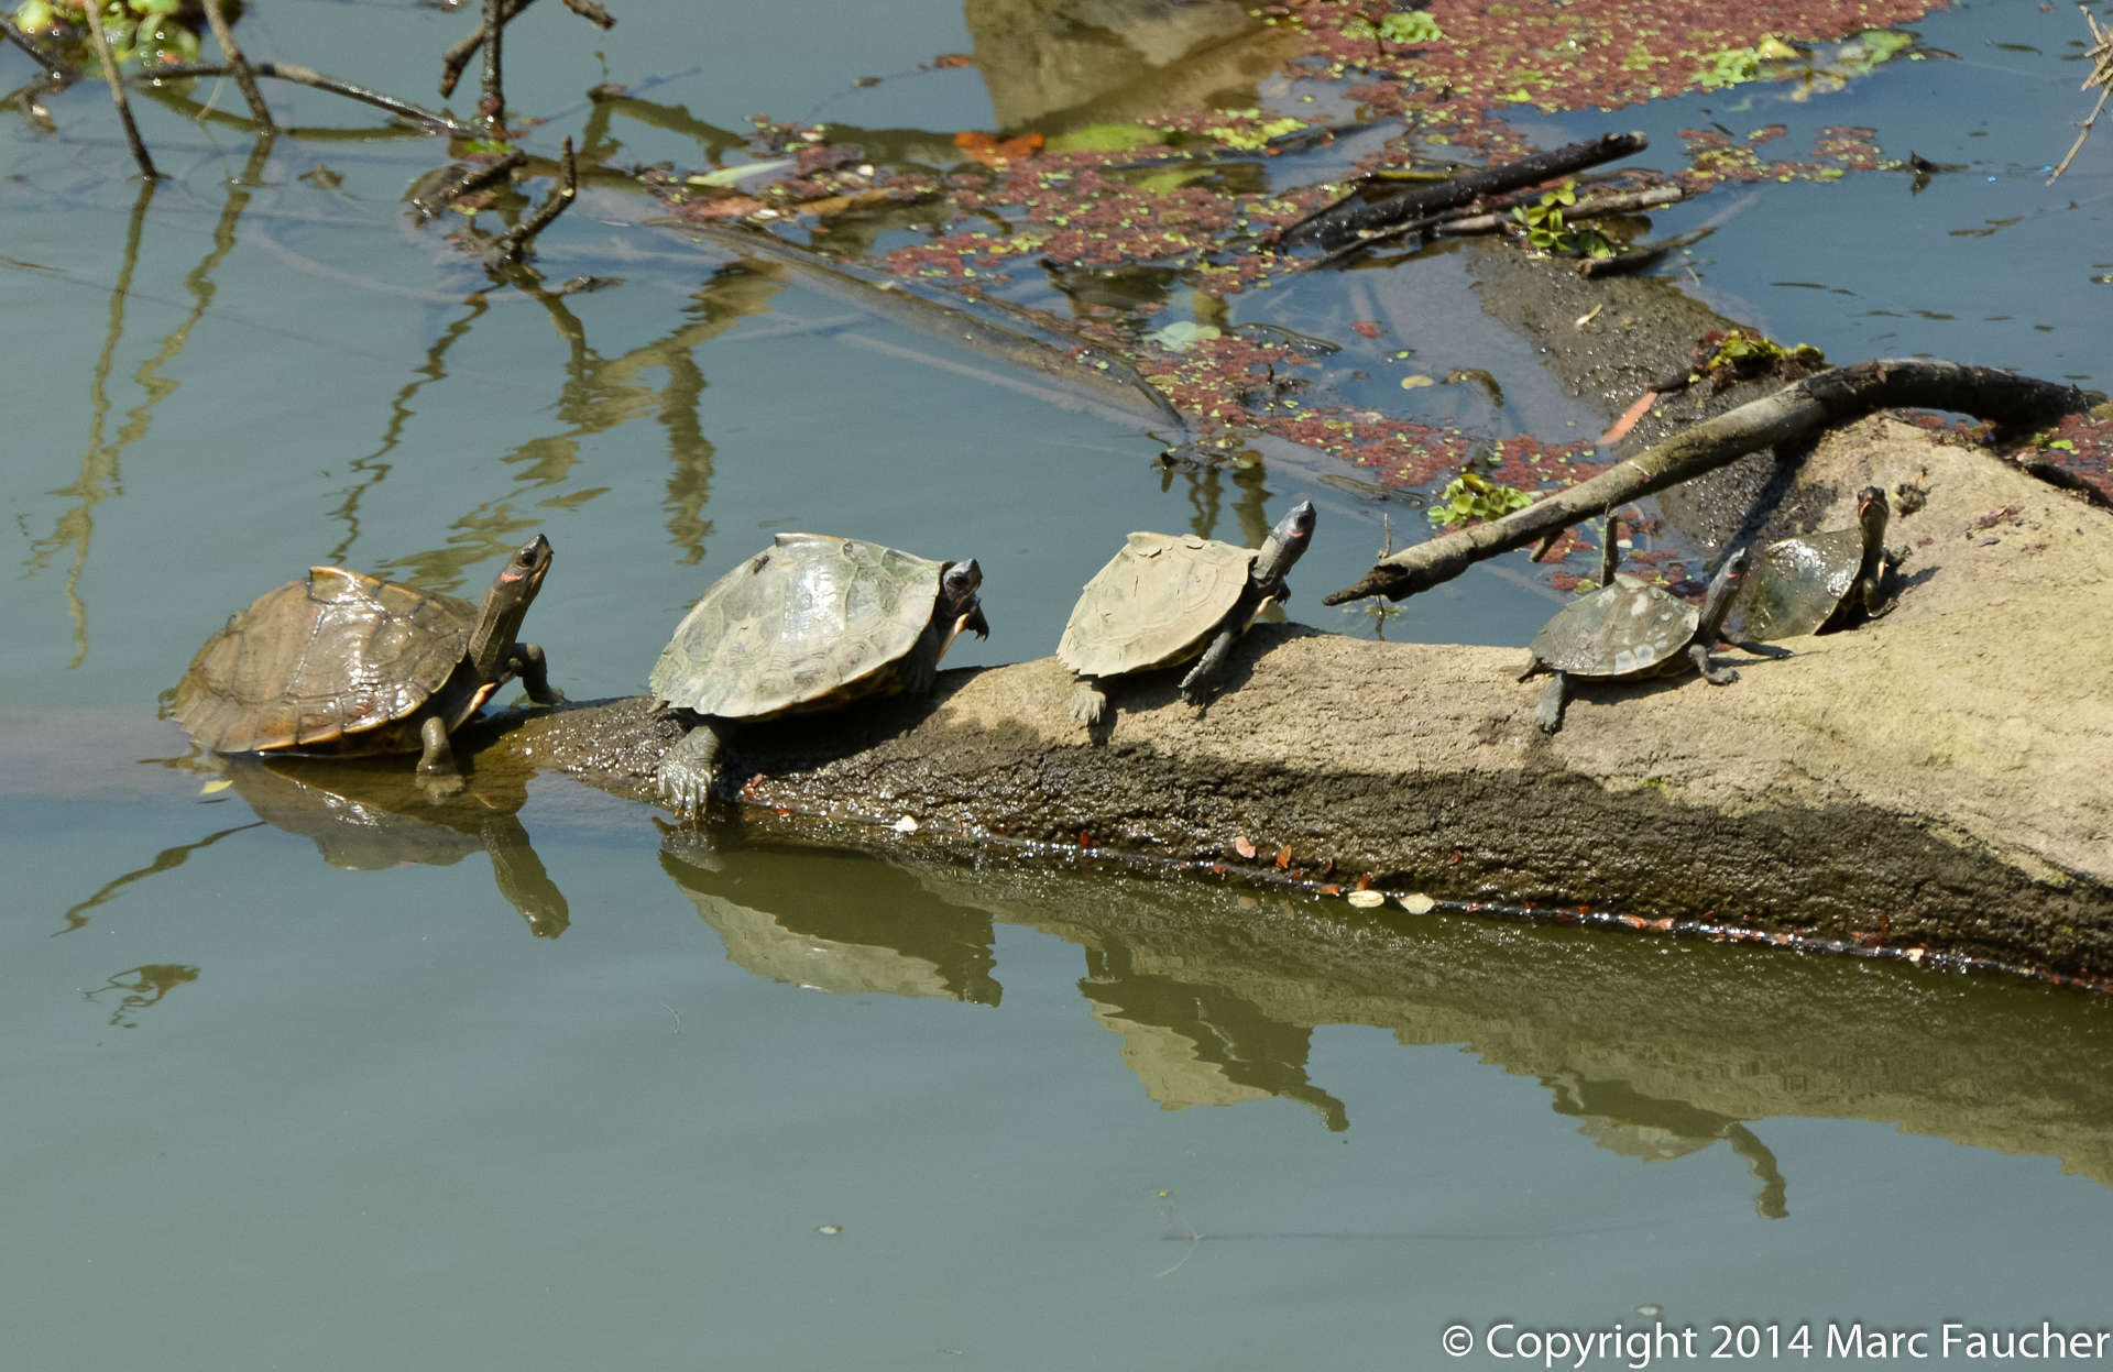
[{"label": "middle turtle with dry tan shell and outstretched neck", "polygon": [[1259,550],[1196,535],[1133,533],[1086,581],[1056,643],[1056,660],[1078,674],[1071,717],[1090,729],[1107,712],[1107,679],[1192,657],[1198,662],[1181,679],[1181,698],[1202,704],[1255,615],[1291,596],[1285,575],[1312,533],[1312,501],[1293,505]]}]

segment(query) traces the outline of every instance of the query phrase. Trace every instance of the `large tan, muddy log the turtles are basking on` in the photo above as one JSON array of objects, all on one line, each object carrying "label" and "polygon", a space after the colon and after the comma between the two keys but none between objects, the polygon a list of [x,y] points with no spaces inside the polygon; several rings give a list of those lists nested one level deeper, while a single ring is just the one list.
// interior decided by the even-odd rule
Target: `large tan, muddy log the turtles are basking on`
[{"label": "large tan, muddy log the turtles are basking on", "polygon": [[[1887,535],[1897,609],[1788,657],[1726,649],[1731,687],[1587,687],[1553,738],[1523,647],[1257,626],[1204,715],[1154,674],[1118,689],[1105,744],[1050,657],[947,672],[930,710],[750,727],[723,784],[835,841],[896,846],[911,816],[917,843],[1088,835],[1259,879],[1289,850],[1344,888],[2113,975],[2113,520],[1889,419],[1830,435],[1805,482],[1821,526],[1866,482],[1927,490]],[[674,738],[632,698],[492,748],[644,799]]]}]

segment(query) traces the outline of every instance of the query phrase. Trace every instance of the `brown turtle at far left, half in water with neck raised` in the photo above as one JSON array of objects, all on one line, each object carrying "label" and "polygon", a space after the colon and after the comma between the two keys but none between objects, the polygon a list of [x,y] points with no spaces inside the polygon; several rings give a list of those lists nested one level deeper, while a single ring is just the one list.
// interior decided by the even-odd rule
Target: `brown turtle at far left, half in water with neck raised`
[{"label": "brown turtle at far left, half in water with neck raised", "polygon": [[175,685],[173,715],[213,753],[418,753],[418,776],[461,786],[448,734],[509,676],[554,704],[543,649],[522,615],[549,573],[549,539],[520,545],[484,605],[342,567],[256,598],[205,641]]}]

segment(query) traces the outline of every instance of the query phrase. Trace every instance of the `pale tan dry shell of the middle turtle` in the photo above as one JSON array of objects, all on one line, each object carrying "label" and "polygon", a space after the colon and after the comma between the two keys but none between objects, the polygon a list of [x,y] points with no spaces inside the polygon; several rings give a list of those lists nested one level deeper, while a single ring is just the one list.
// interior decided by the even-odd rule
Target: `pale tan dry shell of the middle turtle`
[{"label": "pale tan dry shell of the middle turtle", "polygon": [[1056,657],[1080,676],[1118,676],[1198,655],[1247,588],[1253,548],[1133,533],[1086,581]]}]

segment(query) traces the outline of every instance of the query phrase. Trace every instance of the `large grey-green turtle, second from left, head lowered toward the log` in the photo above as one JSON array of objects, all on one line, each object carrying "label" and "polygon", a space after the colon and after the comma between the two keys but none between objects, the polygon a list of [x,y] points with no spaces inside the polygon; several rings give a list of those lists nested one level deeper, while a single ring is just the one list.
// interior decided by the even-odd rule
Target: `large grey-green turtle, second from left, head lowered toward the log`
[{"label": "large grey-green turtle, second from left, head lowered toward the log", "polygon": [[697,598],[676,626],[649,689],[655,710],[691,717],[655,789],[678,814],[712,793],[718,750],[735,725],[835,710],[866,696],[925,696],[961,630],[989,636],[976,560],[780,533]]}]

